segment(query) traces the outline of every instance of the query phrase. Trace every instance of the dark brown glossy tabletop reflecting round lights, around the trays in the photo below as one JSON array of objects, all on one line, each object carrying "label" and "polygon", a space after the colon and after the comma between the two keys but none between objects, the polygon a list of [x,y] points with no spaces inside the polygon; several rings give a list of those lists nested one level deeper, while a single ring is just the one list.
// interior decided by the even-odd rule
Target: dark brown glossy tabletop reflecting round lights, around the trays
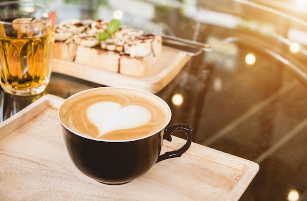
[{"label": "dark brown glossy tabletop reflecting round lights, around the trays", "polygon": [[[44,0],[64,19],[113,18],[207,43],[156,93],[193,141],[259,164],[242,201],[307,200],[307,23],[246,0]],[[82,72],[80,72],[82,73]],[[52,73],[43,94],[0,91],[0,122],[45,94],[67,98],[101,84]]]}]

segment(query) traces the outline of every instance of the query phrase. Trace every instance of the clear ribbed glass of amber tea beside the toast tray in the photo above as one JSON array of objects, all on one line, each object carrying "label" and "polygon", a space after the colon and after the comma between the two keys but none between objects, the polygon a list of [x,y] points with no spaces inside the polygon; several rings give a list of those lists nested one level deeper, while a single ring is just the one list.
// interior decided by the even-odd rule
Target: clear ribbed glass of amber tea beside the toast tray
[{"label": "clear ribbed glass of amber tea beside the toast tray", "polygon": [[35,2],[0,3],[0,85],[13,95],[45,91],[51,76],[55,10]]}]

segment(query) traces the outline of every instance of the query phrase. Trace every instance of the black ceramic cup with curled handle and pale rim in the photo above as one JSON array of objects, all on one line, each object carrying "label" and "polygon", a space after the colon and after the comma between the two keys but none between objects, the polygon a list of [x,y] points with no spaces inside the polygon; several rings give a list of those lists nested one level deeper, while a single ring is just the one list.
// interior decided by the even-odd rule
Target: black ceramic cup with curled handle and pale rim
[{"label": "black ceramic cup with curled handle and pale rim", "polygon": [[[157,101],[167,109],[163,112],[164,115],[167,114],[163,117],[165,118],[165,123],[163,123],[163,126],[160,126],[155,132],[135,139],[98,139],[87,136],[81,133],[81,131],[76,131],[75,128],[73,128],[74,126],[68,125],[68,123],[65,122],[66,120],[64,120],[66,119],[65,117],[70,115],[72,112],[71,110],[77,110],[78,112],[82,110],[78,108],[78,104],[84,105],[86,104],[84,103],[86,100],[97,99],[99,101],[102,100],[101,102],[103,102],[106,94],[111,93],[113,96],[120,92],[123,93],[123,97],[127,97],[131,94],[131,91],[137,93],[137,96],[141,97],[141,99],[143,96],[144,100],[151,99],[147,101],[150,105],[153,104],[152,101]],[[134,99],[135,97],[131,100]],[[69,104],[71,104],[71,107],[68,106]],[[160,112],[161,111],[164,111],[164,108],[162,108],[162,110],[160,108]],[[76,116],[76,114],[74,116]],[[159,116],[159,114],[157,114],[157,116]],[[77,93],[62,103],[59,108],[58,117],[62,125],[63,137],[67,151],[77,169],[84,175],[105,184],[116,185],[132,181],[148,172],[155,163],[169,158],[180,157],[189,149],[192,142],[191,126],[184,124],[167,126],[171,119],[171,112],[169,106],[164,100],[151,93],[134,89],[101,87]],[[79,124],[80,123],[77,123],[76,125],[79,126]],[[146,126],[146,124],[144,125]],[[135,130],[135,128],[133,129]],[[123,133],[125,134],[126,131],[125,129],[122,129],[122,131],[123,130]],[[171,141],[172,133],[177,130],[186,133],[186,144],[179,150],[166,152],[160,155],[163,140],[166,139]],[[113,132],[116,135],[116,129]],[[131,129],[127,130],[127,134],[129,134],[129,132],[131,132]]]}]

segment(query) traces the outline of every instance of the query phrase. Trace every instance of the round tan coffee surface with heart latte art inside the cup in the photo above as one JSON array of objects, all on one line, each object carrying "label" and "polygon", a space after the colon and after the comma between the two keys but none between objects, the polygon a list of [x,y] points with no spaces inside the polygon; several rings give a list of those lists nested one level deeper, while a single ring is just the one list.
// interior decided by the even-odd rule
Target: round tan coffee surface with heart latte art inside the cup
[{"label": "round tan coffee surface with heart latte art inside the cup", "polygon": [[128,88],[83,91],[63,102],[59,119],[90,138],[121,141],[154,134],[170,121],[169,106],[153,94]]}]

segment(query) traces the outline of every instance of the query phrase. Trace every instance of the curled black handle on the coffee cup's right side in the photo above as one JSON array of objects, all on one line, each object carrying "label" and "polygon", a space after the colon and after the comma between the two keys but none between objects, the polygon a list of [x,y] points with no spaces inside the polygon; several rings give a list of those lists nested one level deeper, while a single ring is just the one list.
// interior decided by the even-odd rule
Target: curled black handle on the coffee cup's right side
[{"label": "curled black handle on the coffee cup's right side", "polygon": [[[172,141],[172,133],[180,130],[185,132],[186,134],[186,143],[179,149],[175,151],[167,151],[162,155],[159,155],[157,162],[160,162],[162,160],[168,159],[168,158],[175,158],[180,157],[185,151],[189,149],[192,143],[192,127],[185,125],[185,124],[175,124],[172,126],[168,126],[164,130],[163,139],[171,142]],[[156,163],[157,163],[156,162]]]}]

